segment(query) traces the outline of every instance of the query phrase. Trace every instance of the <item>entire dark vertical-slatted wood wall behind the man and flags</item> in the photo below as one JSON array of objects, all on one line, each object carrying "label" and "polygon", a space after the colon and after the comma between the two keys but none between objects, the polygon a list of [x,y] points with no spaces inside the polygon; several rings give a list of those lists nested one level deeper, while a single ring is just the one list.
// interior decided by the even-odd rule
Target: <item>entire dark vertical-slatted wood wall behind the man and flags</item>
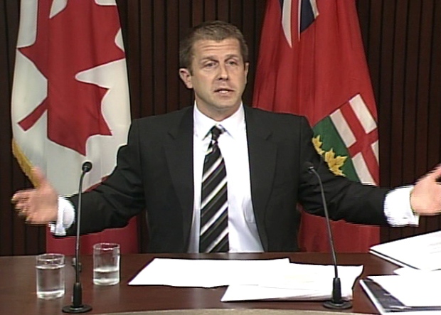
[{"label": "entire dark vertical-slatted wood wall behind the man and flags", "polygon": [[[326,0],[334,1],[334,0]],[[336,0],[335,0],[336,1]],[[191,105],[178,76],[181,35],[204,20],[235,23],[250,46],[245,104],[251,105],[265,0],[118,0],[129,68],[132,117]],[[441,1],[357,0],[378,107],[381,186],[413,183],[440,162]],[[11,207],[29,182],[11,154],[11,87],[18,0],[0,0],[0,255],[45,251],[44,228],[23,224]],[[144,219],[142,219],[144,220]],[[419,228],[382,228],[381,240],[440,229],[441,217]],[[139,235],[144,244],[143,229]]]}]

